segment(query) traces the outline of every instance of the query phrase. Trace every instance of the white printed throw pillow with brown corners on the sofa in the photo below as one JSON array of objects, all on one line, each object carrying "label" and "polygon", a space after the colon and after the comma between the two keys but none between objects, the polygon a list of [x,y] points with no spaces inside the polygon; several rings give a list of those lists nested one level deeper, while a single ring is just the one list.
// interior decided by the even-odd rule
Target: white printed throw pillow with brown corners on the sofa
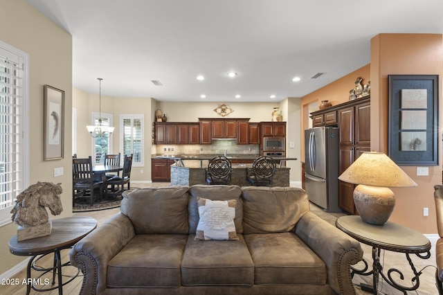
[{"label": "white printed throw pillow with brown corners on the sofa", "polygon": [[237,200],[211,201],[197,197],[197,206],[200,220],[195,240],[239,240],[234,224]]}]

